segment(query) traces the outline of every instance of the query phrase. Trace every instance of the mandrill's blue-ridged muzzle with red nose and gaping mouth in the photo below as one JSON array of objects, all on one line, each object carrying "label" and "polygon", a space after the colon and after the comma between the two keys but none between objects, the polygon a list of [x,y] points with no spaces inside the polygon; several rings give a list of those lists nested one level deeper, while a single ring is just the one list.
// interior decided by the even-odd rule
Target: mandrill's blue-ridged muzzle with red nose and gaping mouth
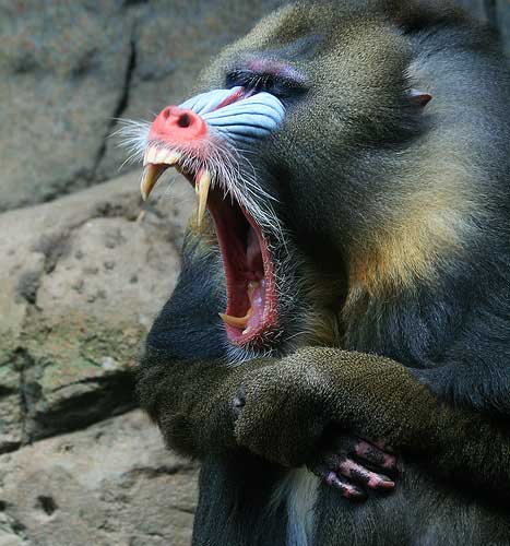
[{"label": "mandrill's blue-ridged muzzle with red nose and gaping mouth", "polygon": [[[215,90],[180,107],[164,108],[145,146],[144,199],[159,176],[175,166],[194,185],[199,227],[209,205],[229,287],[227,311],[220,316],[236,344],[258,340],[276,324],[274,271],[263,234],[274,230],[277,219],[268,204],[258,203],[271,197],[260,195],[254,176],[240,176],[239,152],[274,132],[284,114],[284,105],[270,93],[241,86]],[[234,198],[230,203],[225,202],[227,194]]]}]

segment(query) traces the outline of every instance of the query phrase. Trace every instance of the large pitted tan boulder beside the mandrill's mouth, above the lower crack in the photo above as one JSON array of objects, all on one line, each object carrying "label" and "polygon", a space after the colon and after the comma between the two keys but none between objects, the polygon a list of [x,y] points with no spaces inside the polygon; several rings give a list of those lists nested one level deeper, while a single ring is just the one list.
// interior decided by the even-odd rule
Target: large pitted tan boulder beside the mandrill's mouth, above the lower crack
[{"label": "large pitted tan boulder beside the mandrill's mouth, above the lower crack", "polygon": [[133,406],[130,371],[168,298],[194,201],[143,221],[138,175],[0,216],[0,451]]}]

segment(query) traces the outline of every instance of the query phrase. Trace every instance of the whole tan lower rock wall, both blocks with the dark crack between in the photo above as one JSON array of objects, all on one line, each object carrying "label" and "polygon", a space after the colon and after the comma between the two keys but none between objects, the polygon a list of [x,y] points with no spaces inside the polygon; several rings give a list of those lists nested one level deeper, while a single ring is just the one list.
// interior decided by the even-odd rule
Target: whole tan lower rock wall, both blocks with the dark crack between
[{"label": "whole tan lower rock wall, both blocks with the dark crack between", "polygon": [[138,180],[0,215],[1,546],[189,544],[195,467],[134,410],[131,371],[194,192],[174,180],[141,215]]}]

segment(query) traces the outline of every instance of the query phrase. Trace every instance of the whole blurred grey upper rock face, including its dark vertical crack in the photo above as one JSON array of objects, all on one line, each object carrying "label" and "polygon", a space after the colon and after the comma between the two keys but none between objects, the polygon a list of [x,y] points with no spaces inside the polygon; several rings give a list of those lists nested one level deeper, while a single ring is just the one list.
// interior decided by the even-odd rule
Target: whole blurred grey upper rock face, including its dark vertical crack
[{"label": "whole blurred grey upper rock face, including its dark vertical crack", "polygon": [[0,210],[116,176],[116,118],[181,102],[281,0],[0,1]]}]

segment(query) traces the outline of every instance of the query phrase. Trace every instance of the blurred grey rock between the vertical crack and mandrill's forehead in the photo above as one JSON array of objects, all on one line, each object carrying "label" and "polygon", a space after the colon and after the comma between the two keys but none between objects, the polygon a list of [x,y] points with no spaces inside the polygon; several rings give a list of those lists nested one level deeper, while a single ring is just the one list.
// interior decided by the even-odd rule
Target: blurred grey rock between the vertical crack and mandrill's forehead
[{"label": "blurred grey rock between the vertical crack and mandrill's forehead", "polygon": [[[193,90],[209,60],[283,0],[152,0],[134,27],[137,51],[123,118],[153,119],[180,104]],[[114,128],[115,130],[116,128]],[[126,159],[117,139],[108,139],[97,175],[108,178]]]}]

